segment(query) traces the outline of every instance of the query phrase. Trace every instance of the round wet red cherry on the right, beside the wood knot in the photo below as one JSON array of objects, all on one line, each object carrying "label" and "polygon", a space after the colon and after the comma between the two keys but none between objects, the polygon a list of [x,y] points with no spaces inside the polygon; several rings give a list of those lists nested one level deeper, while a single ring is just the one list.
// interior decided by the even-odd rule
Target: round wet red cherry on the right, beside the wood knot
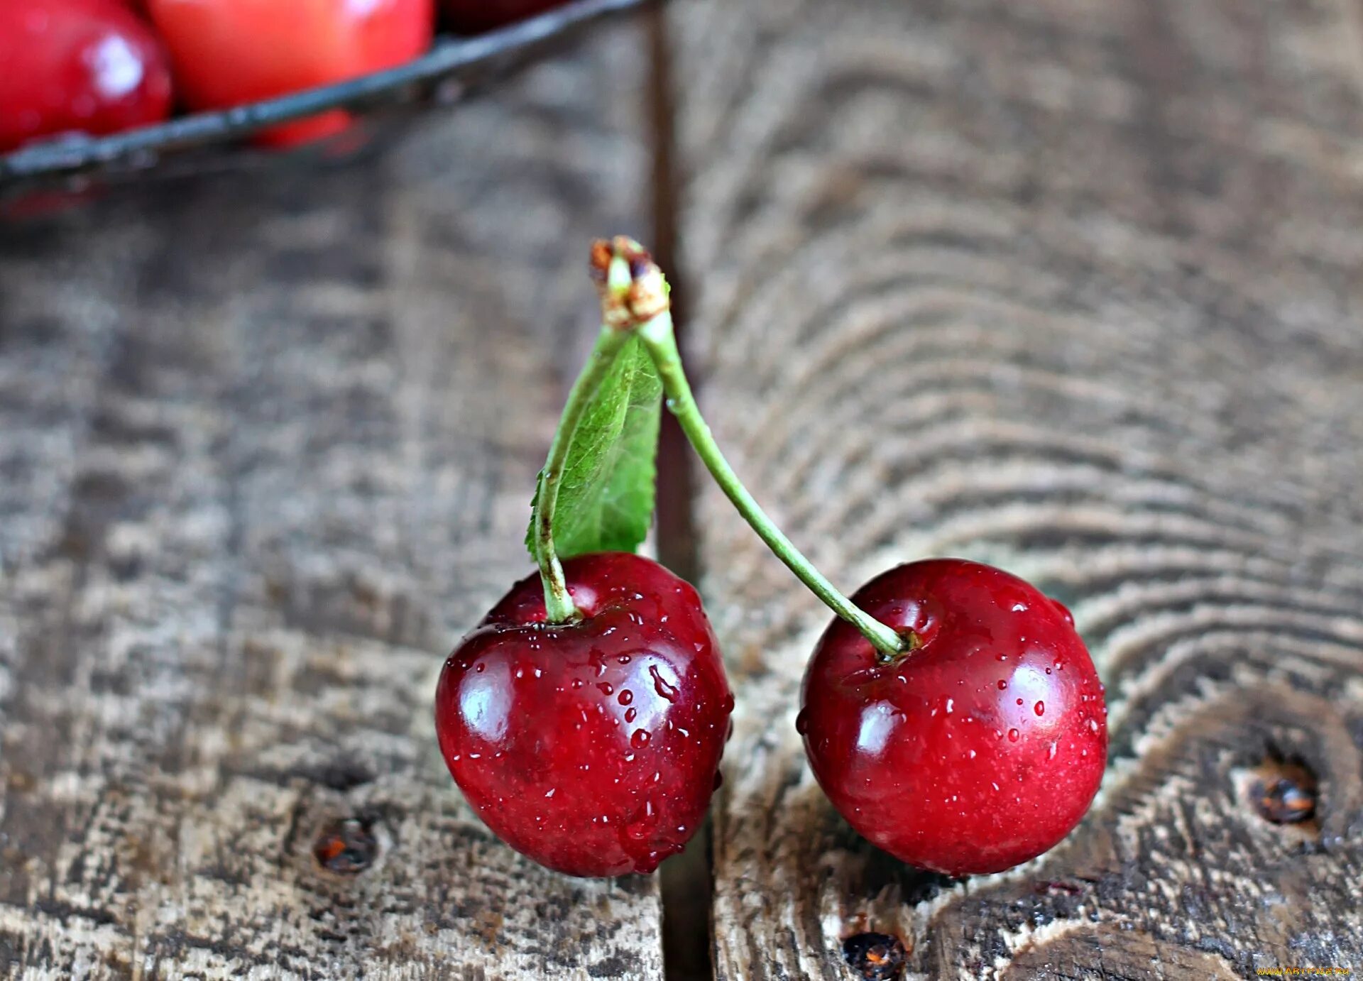
[{"label": "round wet red cherry on the right, beside the wood knot", "polygon": [[889,661],[836,620],[814,650],[796,728],[852,827],[953,876],[1065,838],[1107,762],[1103,685],[1069,610],[961,559],[893,568],[853,602],[921,646]]}]

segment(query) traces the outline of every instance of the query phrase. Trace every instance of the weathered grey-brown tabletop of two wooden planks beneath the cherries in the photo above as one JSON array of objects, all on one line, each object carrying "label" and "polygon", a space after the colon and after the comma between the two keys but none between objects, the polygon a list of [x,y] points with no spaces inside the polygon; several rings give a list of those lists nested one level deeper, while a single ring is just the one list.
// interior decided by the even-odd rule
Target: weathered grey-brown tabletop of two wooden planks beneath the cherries
[{"label": "weathered grey-brown tabletop of two wooden planks beneath the cherries", "polygon": [[[845,978],[864,929],[916,977],[1363,969],[1360,25],[671,5],[721,441],[844,585],[957,553],[1070,604],[1114,740],[1022,869],[874,852],[793,729],[826,614],[706,492],[721,977]],[[428,714],[525,568],[582,243],[646,232],[643,50],[612,29],[364,165],[0,232],[0,974],[661,976],[656,880],[497,845]],[[1277,758],[1315,820],[1254,808]],[[348,818],[376,860],[326,872]]]}]

